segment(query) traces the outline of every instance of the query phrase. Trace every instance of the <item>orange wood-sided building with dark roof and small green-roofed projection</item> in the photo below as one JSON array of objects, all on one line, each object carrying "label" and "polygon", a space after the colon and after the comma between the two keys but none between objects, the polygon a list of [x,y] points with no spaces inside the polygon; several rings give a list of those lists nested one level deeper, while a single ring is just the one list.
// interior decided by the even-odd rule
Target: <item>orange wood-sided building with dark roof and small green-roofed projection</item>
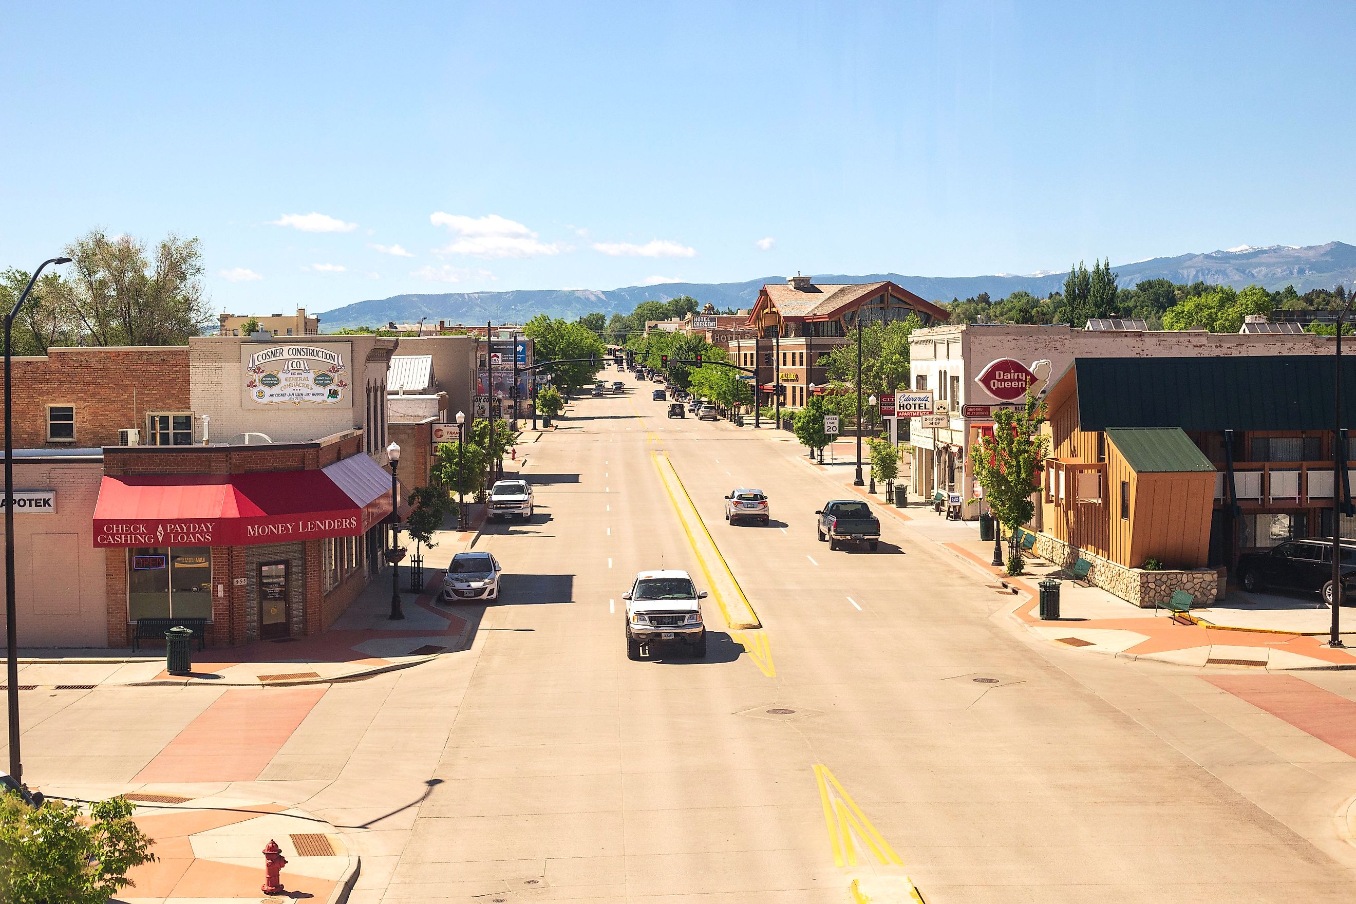
[{"label": "orange wood-sided building with dark roof and small green-roofed projection", "polygon": [[[1356,361],[1342,379],[1347,424]],[[1353,451],[1334,449],[1333,382],[1333,358],[1318,355],[1077,358],[1045,398],[1041,530],[1127,568],[1173,569],[1330,535]]]}]

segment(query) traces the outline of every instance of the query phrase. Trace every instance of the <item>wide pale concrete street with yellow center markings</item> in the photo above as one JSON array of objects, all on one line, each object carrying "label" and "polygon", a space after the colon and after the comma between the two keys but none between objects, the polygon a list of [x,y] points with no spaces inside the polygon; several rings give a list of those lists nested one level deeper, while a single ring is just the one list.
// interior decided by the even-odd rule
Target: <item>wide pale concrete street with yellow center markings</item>
[{"label": "wide pale concrete street with yellow center markings", "polygon": [[[476,541],[507,573],[460,610],[468,651],[30,691],[30,783],[301,808],[361,857],[359,904],[1351,900],[1356,674],[1044,642],[902,519],[876,553],[816,542],[842,489],[789,434],[667,419],[624,379],[521,447],[537,516]],[[735,487],[769,526],[724,522]],[[625,656],[621,595],[660,567],[712,591],[702,661]],[[746,604],[761,629],[727,625]]]}]

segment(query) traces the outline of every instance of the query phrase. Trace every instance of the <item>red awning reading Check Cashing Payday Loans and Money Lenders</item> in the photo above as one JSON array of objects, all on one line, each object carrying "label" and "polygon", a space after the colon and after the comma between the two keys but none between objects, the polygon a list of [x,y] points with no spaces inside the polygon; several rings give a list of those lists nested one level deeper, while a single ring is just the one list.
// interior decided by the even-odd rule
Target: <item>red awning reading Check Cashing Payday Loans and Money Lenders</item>
[{"label": "red awning reading Check Cashing Payday Loans and Money Lenders", "polygon": [[[366,465],[346,465],[340,474],[327,468],[106,476],[94,510],[94,545],[252,546],[355,537],[391,512],[391,476],[366,455],[353,459]],[[388,482],[373,496],[376,474]]]}]

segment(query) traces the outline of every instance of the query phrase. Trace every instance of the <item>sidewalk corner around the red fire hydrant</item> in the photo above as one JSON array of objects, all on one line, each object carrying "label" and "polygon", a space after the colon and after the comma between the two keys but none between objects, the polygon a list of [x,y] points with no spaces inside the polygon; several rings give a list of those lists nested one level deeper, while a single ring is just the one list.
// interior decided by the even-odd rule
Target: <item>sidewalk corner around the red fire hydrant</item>
[{"label": "sidewalk corner around the red fire hydrant", "polygon": [[[95,786],[47,786],[52,797],[89,801],[108,797]],[[225,904],[226,901],[311,900],[339,904],[358,878],[359,858],[328,821],[306,810],[222,793],[197,797],[178,786],[123,792],[137,805],[133,820],[155,843],[156,859],[129,873],[134,882],[121,904]],[[277,842],[287,859],[285,892],[262,890],[263,848]]]}]

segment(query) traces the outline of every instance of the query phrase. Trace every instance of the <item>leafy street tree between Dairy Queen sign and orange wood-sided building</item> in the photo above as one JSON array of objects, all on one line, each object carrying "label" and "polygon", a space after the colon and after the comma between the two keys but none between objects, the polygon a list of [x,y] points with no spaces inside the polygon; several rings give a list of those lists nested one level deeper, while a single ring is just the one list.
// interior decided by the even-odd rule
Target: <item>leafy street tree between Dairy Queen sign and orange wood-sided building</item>
[{"label": "leafy street tree between Dairy Queen sign and orange wood-sided building", "polygon": [[983,436],[970,450],[975,480],[984,491],[989,511],[1008,529],[1009,575],[1022,573],[1021,553],[1016,548],[1017,529],[1036,514],[1031,497],[1039,485],[1036,474],[1048,442],[1040,435],[1044,420],[1045,404],[1026,393],[1026,404],[1021,409],[995,412],[994,435]]}]

